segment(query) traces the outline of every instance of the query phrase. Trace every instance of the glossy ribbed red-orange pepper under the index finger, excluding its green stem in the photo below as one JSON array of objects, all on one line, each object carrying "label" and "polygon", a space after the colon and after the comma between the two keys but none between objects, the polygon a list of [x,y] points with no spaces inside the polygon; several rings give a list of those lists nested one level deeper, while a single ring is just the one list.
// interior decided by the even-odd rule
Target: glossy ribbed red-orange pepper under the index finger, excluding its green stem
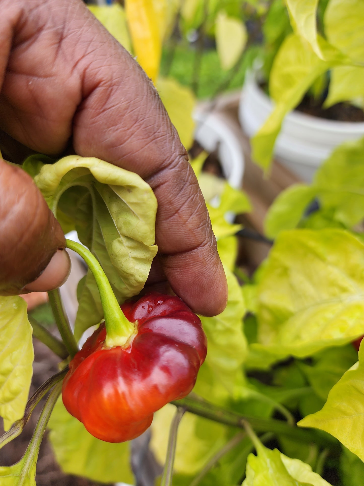
[{"label": "glossy ribbed red-orange pepper under the index finger, excluding its green stem", "polygon": [[142,434],[153,412],[193,388],[207,352],[199,317],[178,297],[150,293],[121,307],[137,334],[104,347],[101,324],[69,364],[62,398],[90,434],[123,442]]}]

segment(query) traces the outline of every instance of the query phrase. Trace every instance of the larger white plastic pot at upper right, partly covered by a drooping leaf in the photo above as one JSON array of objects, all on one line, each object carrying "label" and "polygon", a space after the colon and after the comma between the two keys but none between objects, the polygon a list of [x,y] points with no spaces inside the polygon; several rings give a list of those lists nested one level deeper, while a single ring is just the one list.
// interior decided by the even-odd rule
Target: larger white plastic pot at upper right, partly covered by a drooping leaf
[{"label": "larger white plastic pot at upper right, partly covered by a drooping leaf", "polygon": [[[258,86],[255,76],[248,74],[239,104],[239,121],[249,137],[259,130],[272,110],[272,101]],[[364,122],[325,120],[292,111],[282,123],[274,153],[284,166],[310,182],[335,147],[363,136]]]}]

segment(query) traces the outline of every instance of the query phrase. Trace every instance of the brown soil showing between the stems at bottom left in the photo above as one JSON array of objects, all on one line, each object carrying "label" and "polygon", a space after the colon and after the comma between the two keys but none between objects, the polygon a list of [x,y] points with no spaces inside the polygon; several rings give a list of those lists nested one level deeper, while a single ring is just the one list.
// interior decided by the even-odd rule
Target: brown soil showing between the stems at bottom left
[{"label": "brown soil showing between the stems at bottom left", "polygon": [[[37,339],[33,340],[33,344],[35,358],[31,395],[42,383],[59,371],[57,367],[59,358]],[[45,399],[37,405],[23,432],[0,450],[0,466],[10,466],[22,457],[32,437],[44,403]],[[2,423],[0,423],[1,434],[3,434]],[[61,471],[55,461],[50,442],[47,440],[47,433],[40,447],[35,481],[37,486],[99,486],[99,483],[67,475]]]}]

